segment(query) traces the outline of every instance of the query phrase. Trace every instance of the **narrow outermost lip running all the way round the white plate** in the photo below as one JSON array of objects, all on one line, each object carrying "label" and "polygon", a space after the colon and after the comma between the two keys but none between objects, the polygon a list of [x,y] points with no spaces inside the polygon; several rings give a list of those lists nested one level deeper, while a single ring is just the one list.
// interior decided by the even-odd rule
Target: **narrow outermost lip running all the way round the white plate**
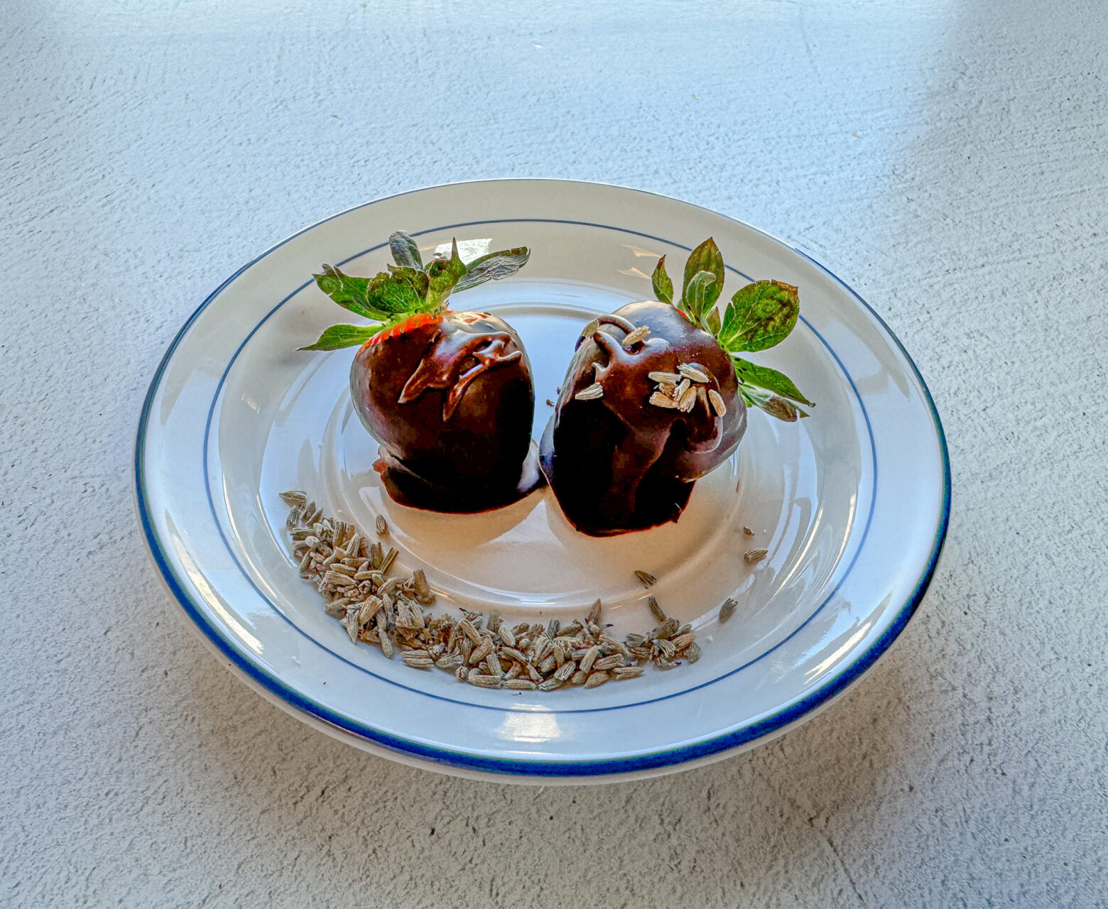
[{"label": "narrow outermost lip running all the way round the white plate", "polygon": [[[899,350],[901,357],[907,363],[910,370],[912,371],[916,382],[919,383],[920,390],[922,391],[922,396],[927,406],[927,412],[931,415],[931,420],[935,430],[936,442],[938,443],[938,453],[942,462],[942,500],[938,513],[938,519],[935,526],[934,537],[932,539],[931,551],[926,564],[923,567],[923,571],[920,575],[919,580],[915,583],[912,595],[903,603],[903,606],[897,610],[893,620],[890,622],[888,628],[879,636],[870,645],[863,651],[858,658],[850,663],[840,669],[840,671],[829,679],[824,684],[820,685],[815,691],[787,704],[779,710],[773,711],[766,717],[758,720],[747,726],[738,730],[731,730],[730,732],[725,732],[719,735],[701,740],[686,745],[678,745],[676,747],[667,747],[653,752],[639,753],[636,755],[628,755],[625,757],[615,758],[581,758],[581,760],[543,760],[543,761],[520,761],[514,758],[504,757],[493,757],[489,755],[480,754],[469,754],[463,752],[450,751],[447,748],[433,747],[419,742],[409,741],[402,737],[394,736],[389,733],[384,733],[378,730],[362,729],[352,730],[349,727],[348,722],[342,722],[343,719],[340,714],[329,711],[322,705],[316,704],[310,699],[302,695],[295,688],[286,683],[279,678],[279,675],[267,671],[266,669],[255,665],[253,661],[248,660],[245,654],[234,645],[234,643],[225,638],[225,636],[215,628],[208,619],[205,617],[199,607],[193,601],[191,595],[185,589],[185,587],[178,581],[175,571],[170,564],[170,560],[165,557],[162,547],[162,541],[157,535],[154,524],[151,519],[150,506],[146,498],[146,492],[144,489],[144,462],[145,462],[145,436],[146,430],[150,422],[150,414],[153,409],[154,399],[156,397],[157,391],[161,386],[161,380],[163,374],[168,366],[173,354],[176,352],[178,345],[184,339],[185,334],[192,328],[193,323],[201,316],[201,313],[207,309],[207,307],[219,297],[219,295],[237,278],[249,270],[254,265],[259,262],[261,259],[271,255],[289,241],[295,238],[319,227],[336,218],[340,218],[352,211],[367,208],[369,206],[393,200],[397,198],[402,198],[403,196],[412,195],[416,193],[423,193],[428,190],[433,190],[443,187],[458,187],[458,186],[475,186],[475,185],[504,185],[504,184],[521,184],[521,183],[546,183],[546,184],[563,184],[568,186],[574,186],[578,188],[587,187],[604,187],[611,189],[618,189],[623,192],[635,193],[644,196],[652,196],[659,199],[665,199],[669,203],[678,203],[680,205],[687,206],[689,208],[697,209],[705,213],[706,215],[724,218],[727,221],[736,224],[747,230],[750,230],[757,235],[766,237],[772,240],[774,244],[783,247],[784,249],[796,252],[802,259],[812,265],[820,272],[827,275],[832,281],[838,285],[851,300],[860,304],[863,311],[876,322],[876,324],[882,330],[882,333],[888,340],[890,340],[893,347]],[[909,354],[904,344],[896,337],[896,334],[890,329],[884,319],[879,316],[874,309],[845,281],[843,281],[838,275],[831,271],[827,266],[822,265],[815,260],[812,256],[804,252],[802,249],[797,248],[794,245],[782,240],[781,238],[755,227],[746,221],[738,218],[732,218],[719,211],[706,208],[704,206],[697,205],[695,203],[685,202],[684,199],[677,199],[673,196],[667,196],[659,193],[654,193],[650,190],[638,189],[635,187],[623,186],[613,183],[603,183],[595,180],[575,180],[575,179],[561,179],[561,178],[496,178],[496,179],[472,179],[472,180],[458,180],[443,184],[437,184],[433,186],[423,186],[416,189],[408,189],[401,193],[394,193],[387,196],[381,196],[379,198],[370,199],[368,202],[353,205],[341,211],[329,215],[321,218],[306,227],[288,235],[284,239],[270,246],[265,251],[255,256],[248,262],[238,268],[234,273],[219,283],[219,286],[209,293],[204,301],[193,311],[193,313],[185,320],[184,324],[174,335],[170,345],[167,347],[154,375],[151,380],[150,386],[147,389],[145,399],[143,401],[143,406],[140,412],[138,425],[135,434],[135,445],[134,445],[134,458],[132,465],[132,479],[133,479],[133,492],[134,492],[134,503],[135,509],[140,519],[140,525],[143,530],[144,543],[146,549],[151,555],[152,560],[158,569],[163,582],[168,588],[170,592],[177,600],[178,605],[182,607],[186,616],[191,619],[191,624],[201,632],[207,642],[213,645],[216,651],[222,654],[226,660],[229,660],[234,669],[238,672],[244,673],[248,679],[253,680],[256,684],[265,689],[270,695],[273,695],[278,703],[294,715],[307,714],[317,723],[322,723],[325,729],[328,731],[334,730],[336,734],[341,733],[340,737],[342,741],[349,741],[349,736],[355,736],[359,742],[365,742],[367,745],[373,746],[376,748],[383,748],[388,753],[401,757],[406,761],[418,761],[419,764],[425,765],[425,762],[431,762],[439,766],[441,769],[454,769],[462,771],[469,774],[478,775],[489,775],[495,778],[503,779],[505,777],[540,777],[546,781],[566,777],[573,778],[577,782],[584,782],[588,778],[597,778],[604,776],[627,776],[627,775],[639,775],[644,773],[659,773],[665,771],[665,768],[676,769],[681,765],[689,764],[690,762],[702,763],[706,760],[719,758],[728,754],[729,752],[740,750],[743,747],[749,747],[760,740],[768,740],[773,737],[776,733],[783,732],[788,726],[798,723],[799,721],[813,715],[820,707],[828,705],[833,699],[840,695],[847,688],[849,688],[854,681],[856,681],[862,674],[864,674],[870,667],[883,654],[885,653],[892,643],[896,640],[900,633],[903,631],[904,627],[911,620],[912,616],[915,613],[920,606],[923,597],[931,585],[934,577],[935,569],[937,567],[938,559],[942,554],[942,549],[945,543],[948,525],[950,525],[950,512],[951,512],[951,464],[950,454],[947,450],[946,435],[943,430],[942,421],[938,415],[938,411],[935,407],[934,400],[931,395],[931,391],[927,388],[923,375],[920,373],[915,361]],[[306,719],[306,717],[305,717]],[[366,723],[357,723],[358,726],[366,727]]]}]

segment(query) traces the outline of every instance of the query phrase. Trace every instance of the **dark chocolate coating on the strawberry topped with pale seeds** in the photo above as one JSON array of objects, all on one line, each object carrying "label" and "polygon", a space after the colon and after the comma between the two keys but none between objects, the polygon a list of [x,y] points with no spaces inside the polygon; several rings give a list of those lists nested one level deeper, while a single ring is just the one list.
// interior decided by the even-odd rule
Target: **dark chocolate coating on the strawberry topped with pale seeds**
[{"label": "dark chocolate coating on the strawberry topped with pale seeds", "polygon": [[[668,303],[629,303],[613,316],[647,326],[649,335],[627,350],[626,326],[607,323],[578,342],[540,446],[566,518],[594,537],[677,520],[694,483],[731,455],[747,427],[735,369],[715,338]],[[656,388],[648,373],[675,373],[681,363],[710,376],[705,388],[722,396],[724,416],[700,401],[688,413],[648,403]],[[594,382],[603,397],[575,399]]]}]

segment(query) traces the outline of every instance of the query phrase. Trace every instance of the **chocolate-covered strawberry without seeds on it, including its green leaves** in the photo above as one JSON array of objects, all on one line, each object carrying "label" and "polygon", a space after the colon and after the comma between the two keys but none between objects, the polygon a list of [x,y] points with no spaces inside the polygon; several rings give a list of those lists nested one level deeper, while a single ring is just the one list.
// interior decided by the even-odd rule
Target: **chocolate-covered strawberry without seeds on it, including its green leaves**
[{"label": "chocolate-covered strawberry without seeds on it, including its green leaves", "polygon": [[396,265],[373,278],[324,266],[316,282],[335,302],[372,320],[331,326],[302,350],[360,344],[350,368],[355,411],[380,443],[375,468],[393,499],[434,512],[484,512],[535,488],[531,450],[535,395],[531,364],[511,326],[481,312],[452,312],[447,299],[514,275],[526,248],[424,268],[414,240],[389,238]]}]

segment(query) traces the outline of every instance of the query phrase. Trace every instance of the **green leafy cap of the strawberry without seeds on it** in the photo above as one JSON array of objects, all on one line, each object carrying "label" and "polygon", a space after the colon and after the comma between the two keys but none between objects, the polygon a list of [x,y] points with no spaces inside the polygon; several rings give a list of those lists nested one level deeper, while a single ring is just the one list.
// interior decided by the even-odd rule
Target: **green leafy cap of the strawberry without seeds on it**
[{"label": "green leafy cap of the strawberry without seeds on it", "polygon": [[312,276],[324,293],[367,319],[369,324],[331,326],[314,344],[300,350],[339,350],[379,343],[428,324],[447,312],[447,300],[453,291],[514,275],[531,257],[531,250],[521,246],[463,262],[458,255],[458,241],[453,240],[450,258],[437,256],[424,266],[416,240],[402,230],[389,237],[389,248],[396,265],[389,265],[387,271],[372,278],[346,275],[331,265],[325,265],[321,273]]}]

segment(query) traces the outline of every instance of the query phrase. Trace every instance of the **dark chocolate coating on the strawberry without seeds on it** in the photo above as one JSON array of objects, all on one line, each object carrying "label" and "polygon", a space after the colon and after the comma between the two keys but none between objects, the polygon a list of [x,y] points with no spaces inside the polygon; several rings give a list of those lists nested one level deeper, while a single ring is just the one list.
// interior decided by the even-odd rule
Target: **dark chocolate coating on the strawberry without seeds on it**
[{"label": "dark chocolate coating on the strawberry without seeds on it", "polygon": [[531,363],[501,319],[448,312],[366,344],[350,368],[350,392],[381,446],[373,467],[403,505],[485,512],[542,483],[529,457]]}]

